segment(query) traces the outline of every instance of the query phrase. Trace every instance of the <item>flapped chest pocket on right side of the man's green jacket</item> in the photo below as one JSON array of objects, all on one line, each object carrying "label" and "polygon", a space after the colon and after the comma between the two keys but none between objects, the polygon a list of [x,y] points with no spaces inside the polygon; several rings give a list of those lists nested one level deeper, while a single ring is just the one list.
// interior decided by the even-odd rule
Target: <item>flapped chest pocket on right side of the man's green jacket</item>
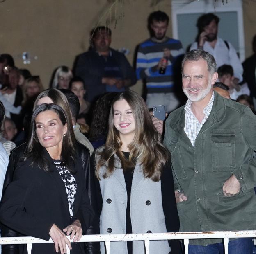
[{"label": "flapped chest pocket on right side of the man's green jacket", "polygon": [[213,171],[235,169],[235,134],[211,135]]}]

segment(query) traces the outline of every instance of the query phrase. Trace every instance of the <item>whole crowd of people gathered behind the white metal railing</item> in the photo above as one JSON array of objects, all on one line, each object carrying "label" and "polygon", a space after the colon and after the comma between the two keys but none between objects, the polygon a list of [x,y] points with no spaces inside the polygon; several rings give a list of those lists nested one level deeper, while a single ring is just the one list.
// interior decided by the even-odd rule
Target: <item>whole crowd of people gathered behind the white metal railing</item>
[{"label": "whole crowd of people gathered behind the white metal railing", "polygon": [[[82,234],[256,229],[256,36],[242,64],[213,13],[198,19],[186,53],[166,36],[166,13],[148,23],[135,69],[110,47],[110,28],[96,27],[90,49],[73,70],[57,67],[46,90],[0,55],[1,236],[53,240],[32,253],[104,254],[104,243],[77,243]],[[137,79],[145,98],[129,89]],[[149,248],[183,252],[178,240]],[[229,241],[231,254],[252,248],[251,238]],[[142,254],[144,242],[113,242],[110,252]],[[189,254],[199,253],[223,254],[222,239],[191,240]]]}]

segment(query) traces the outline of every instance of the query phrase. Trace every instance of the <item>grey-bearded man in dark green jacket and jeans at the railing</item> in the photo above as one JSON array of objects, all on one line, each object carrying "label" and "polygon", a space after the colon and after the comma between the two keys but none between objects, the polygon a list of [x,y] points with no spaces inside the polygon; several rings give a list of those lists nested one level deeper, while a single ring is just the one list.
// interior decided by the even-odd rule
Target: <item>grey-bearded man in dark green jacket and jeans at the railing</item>
[{"label": "grey-bearded man in dark green jacket and jeans at the railing", "polygon": [[[165,126],[181,232],[255,230],[256,116],[213,91],[212,55],[201,49],[182,62],[185,106]],[[252,253],[251,239],[229,241],[230,254]],[[189,254],[222,254],[222,239],[190,240]]]}]

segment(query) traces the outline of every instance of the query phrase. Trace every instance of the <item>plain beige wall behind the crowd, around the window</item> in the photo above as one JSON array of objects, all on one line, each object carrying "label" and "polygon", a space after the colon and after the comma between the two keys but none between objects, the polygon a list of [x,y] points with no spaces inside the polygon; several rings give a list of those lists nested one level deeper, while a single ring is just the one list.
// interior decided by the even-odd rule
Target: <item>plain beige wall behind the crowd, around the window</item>
[{"label": "plain beige wall behind the crowd, around the window", "polygon": [[[91,28],[100,19],[100,24],[105,24],[112,6],[112,47],[129,49],[127,57],[132,63],[136,45],[149,37],[146,29],[149,13],[160,9],[171,16],[171,0],[151,6],[152,2],[157,1],[121,0],[112,6],[113,0],[6,0],[0,3],[0,52],[13,55],[19,68],[40,75],[47,88],[55,67],[72,67],[75,56],[88,49]],[[256,3],[245,0],[243,6],[246,56],[249,56],[256,32]],[[171,36],[171,24],[167,34]],[[30,65],[23,64],[24,51],[32,56]],[[133,90],[140,92],[141,83],[137,82]]]}]

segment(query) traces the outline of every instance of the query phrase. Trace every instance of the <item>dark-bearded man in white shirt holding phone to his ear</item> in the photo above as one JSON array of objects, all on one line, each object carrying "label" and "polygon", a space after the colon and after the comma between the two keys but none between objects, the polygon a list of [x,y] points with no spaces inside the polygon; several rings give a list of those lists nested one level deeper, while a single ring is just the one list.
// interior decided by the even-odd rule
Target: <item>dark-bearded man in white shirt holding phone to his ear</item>
[{"label": "dark-bearded man in white shirt holding phone to his ear", "polygon": [[242,81],[243,67],[235,48],[230,42],[217,37],[219,17],[213,13],[207,13],[197,20],[197,42],[192,43],[190,50],[203,49],[214,56],[217,68],[224,64],[231,65],[234,70],[234,81]]}]

